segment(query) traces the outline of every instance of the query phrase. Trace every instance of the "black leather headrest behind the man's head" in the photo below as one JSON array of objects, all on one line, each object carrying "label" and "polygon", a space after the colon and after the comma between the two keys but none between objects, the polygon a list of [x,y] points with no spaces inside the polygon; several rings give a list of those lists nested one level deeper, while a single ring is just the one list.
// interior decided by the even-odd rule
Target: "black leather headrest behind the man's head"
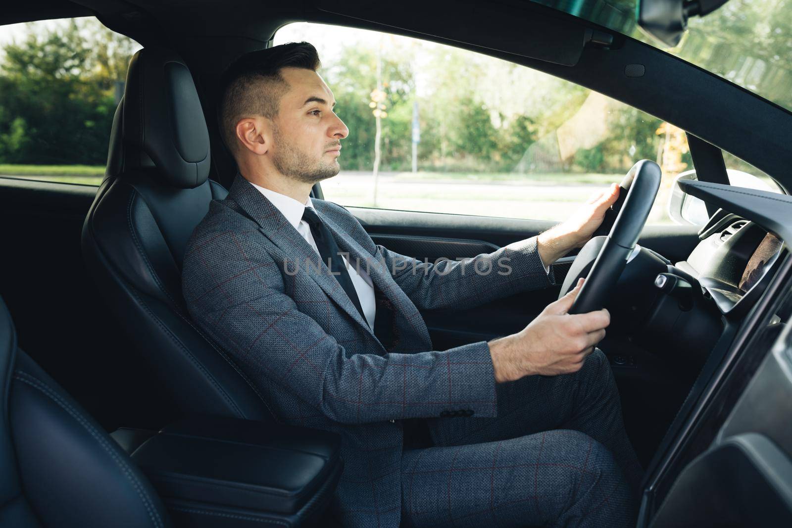
[{"label": "black leather headrest behind the man's head", "polygon": [[[195,188],[209,176],[209,131],[195,83],[179,56],[144,48],[132,56],[121,118],[124,169],[154,170],[164,184]],[[112,158],[113,149],[111,143]]]}]

